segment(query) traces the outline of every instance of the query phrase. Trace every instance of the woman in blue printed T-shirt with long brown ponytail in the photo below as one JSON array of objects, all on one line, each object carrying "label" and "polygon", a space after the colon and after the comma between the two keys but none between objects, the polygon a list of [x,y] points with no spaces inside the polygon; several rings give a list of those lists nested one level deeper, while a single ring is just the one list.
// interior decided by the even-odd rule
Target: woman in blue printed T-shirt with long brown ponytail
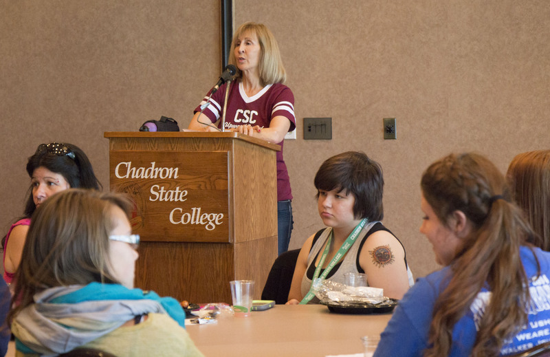
[{"label": "woman in blue printed T-shirt with long brown ponytail", "polygon": [[418,279],[381,335],[381,356],[509,356],[549,339],[550,253],[496,166],[448,155],[421,180],[420,232],[442,270]]}]

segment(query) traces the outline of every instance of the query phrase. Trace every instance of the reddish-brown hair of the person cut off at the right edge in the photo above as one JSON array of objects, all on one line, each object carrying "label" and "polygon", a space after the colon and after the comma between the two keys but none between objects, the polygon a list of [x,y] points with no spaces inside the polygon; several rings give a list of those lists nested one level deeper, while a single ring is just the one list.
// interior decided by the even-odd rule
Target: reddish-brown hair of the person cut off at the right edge
[{"label": "reddish-brown hair of the person cut off at the right edge", "polygon": [[550,150],[516,155],[506,177],[514,201],[538,235],[536,246],[550,251]]}]

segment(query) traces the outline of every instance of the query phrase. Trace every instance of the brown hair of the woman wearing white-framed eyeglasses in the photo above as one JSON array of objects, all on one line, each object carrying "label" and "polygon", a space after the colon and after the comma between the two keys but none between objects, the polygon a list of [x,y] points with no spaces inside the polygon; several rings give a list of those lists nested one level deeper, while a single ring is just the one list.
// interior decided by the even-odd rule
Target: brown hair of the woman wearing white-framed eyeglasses
[{"label": "brown hair of the woman wearing white-framed eyeglasses", "polygon": [[124,195],[69,188],[48,198],[32,216],[21,264],[14,277],[8,321],[47,288],[120,283],[109,261],[113,206],[129,217],[133,205]]}]

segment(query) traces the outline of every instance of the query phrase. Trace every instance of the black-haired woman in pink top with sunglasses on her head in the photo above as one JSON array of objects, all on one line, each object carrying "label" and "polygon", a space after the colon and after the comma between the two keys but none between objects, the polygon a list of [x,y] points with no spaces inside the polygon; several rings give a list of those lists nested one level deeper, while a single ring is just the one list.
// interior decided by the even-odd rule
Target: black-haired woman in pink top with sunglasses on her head
[{"label": "black-haired woman in pink top with sunglasses on her head", "polygon": [[28,159],[27,173],[31,186],[24,216],[11,226],[3,241],[3,278],[8,284],[12,283],[21,261],[30,218],[36,207],[67,188],[101,188],[86,154],[73,144],[52,142],[39,145]]}]

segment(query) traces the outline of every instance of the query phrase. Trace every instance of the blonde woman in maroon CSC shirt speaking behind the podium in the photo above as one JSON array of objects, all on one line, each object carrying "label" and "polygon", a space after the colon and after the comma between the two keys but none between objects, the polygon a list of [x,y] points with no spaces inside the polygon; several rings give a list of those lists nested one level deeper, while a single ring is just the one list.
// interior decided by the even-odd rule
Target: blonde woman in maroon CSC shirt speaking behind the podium
[{"label": "blonde woman in maroon CSC shirt speaking behind the podium", "polygon": [[[284,85],[286,72],[281,54],[265,25],[243,23],[233,36],[231,48],[229,64],[236,66],[236,80],[208,92],[195,108],[188,129],[220,131],[223,126],[225,131],[236,131],[281,146],[276,154],[278,254],[281,254],[288,249],[293,224],[292,192],[283,160],[283,142],[286,133],[296,128],[294,94]],[[225,120],[221,120],[227,86]]]}]

